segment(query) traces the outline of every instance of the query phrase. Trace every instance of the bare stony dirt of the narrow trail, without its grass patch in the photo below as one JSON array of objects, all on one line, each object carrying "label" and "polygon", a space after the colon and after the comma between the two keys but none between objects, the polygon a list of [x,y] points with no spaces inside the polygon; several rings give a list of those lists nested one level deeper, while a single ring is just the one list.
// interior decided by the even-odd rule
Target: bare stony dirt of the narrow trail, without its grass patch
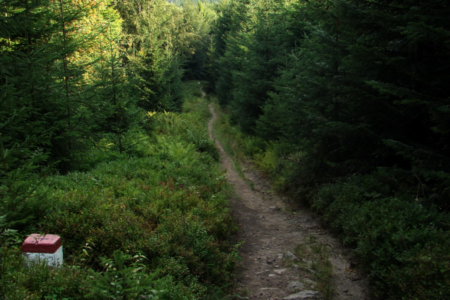
[{"label": "bare stony dirt of the narrow trail, without its grass patch", "polygon": [[[209,138],[214,139],[212,123],[216,114],[209,105],[212,118],[208,123]],[[315,236],[319,243],[330,248],[333,265],[333,299],[369,299],[366,280],[352,267],[349,250],[342,247],[311,214],[288,212],[283,199],[270,191],[270,187],[255,170],[244,169],[246,178],[254,184],[250,188],[232,167],[232,160],[222,145],[215,140],[220,151],[221,166],[226,170],[227,180],[239,197],[231,205],[240,225],[239,240],[243,241],[240,252],[237,290],[234,292],[249,299],[282,299],[299,290],[286,289],[289,282],[305,283],[305,289],[314,290],[314,282],[308,281],[311,273],[285,266],[282,253],[292,251],[305,237]],[[285,256],[284,256],[285,257]]]}]

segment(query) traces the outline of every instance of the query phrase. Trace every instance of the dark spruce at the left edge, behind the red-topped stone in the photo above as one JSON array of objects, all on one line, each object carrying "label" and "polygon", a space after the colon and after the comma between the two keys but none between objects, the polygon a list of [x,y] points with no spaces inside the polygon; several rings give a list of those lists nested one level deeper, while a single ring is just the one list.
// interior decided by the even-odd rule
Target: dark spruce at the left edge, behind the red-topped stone
[{"label": "dark spruce at the left edge, behind the red-topped stone", "polygon": [[61,85],[53,71],[60,48],[52,7],[24,0],[0,8],[0,213],[10,227],[25,225],[48,205],[37,170],[61,158],[53,150]]}]

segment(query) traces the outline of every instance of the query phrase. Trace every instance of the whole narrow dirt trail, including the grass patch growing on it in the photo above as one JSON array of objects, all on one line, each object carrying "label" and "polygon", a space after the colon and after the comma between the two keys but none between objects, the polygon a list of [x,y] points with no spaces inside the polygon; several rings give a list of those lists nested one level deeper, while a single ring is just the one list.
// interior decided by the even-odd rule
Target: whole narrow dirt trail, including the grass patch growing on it
[{"label": "whole narrow dirt trail, including the grass patch growing on it", "polygon": [[[212,118],[209,137],[214,139]],[[283,199],[270,191],[257,171],[243,173],[253,188],[233,168],[231,157],[215,140],[221,166],[234,187],[234,217],[242,241],[236,278],[240,297],[249,299],[369,299],[366,280],[353,268],[349,250],[314,217],[288,209]]]}]

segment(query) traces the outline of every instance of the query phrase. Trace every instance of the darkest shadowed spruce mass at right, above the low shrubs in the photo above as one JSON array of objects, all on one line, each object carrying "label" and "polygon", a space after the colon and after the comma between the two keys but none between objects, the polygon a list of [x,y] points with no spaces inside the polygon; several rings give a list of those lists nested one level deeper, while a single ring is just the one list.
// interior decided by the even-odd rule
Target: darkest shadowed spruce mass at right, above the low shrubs
[{"label": "darkest shadowed spruce mass at right, above the low shrubs", "polygon": [[258,129],[301,145],[311,180],[401,167],[417,178],[426,202],[447,209],[448,5],[330,3],[305,6],[307,39]]}]

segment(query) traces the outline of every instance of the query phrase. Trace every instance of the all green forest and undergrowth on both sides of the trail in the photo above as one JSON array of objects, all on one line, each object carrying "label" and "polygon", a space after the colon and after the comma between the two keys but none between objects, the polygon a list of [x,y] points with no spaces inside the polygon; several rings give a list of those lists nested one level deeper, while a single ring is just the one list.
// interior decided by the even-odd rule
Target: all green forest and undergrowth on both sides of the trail
[{"label": "all green forest and undergrowth on both sides of the trail", "polygon": [[[354,249],[375,296],[450,298],[447,1],[0,10],[0,299],[112,299],[117,276],[123,299],[217,296],[237,229],[198,80],[274,187]],[[70,240],[72,267],[24,270],[14,246],[35,231]]]}]

